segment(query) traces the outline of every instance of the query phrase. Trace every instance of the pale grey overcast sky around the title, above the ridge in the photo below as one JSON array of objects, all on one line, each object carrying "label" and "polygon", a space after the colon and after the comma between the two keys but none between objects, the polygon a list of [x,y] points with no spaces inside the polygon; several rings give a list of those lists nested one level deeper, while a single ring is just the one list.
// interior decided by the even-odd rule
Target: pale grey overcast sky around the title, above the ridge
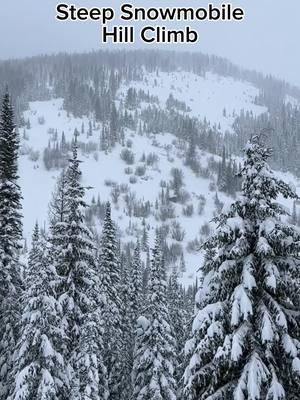
[{"label": "pale grey overcast sky around the title, above the ridge", "polygon": [[[0,58],[100,48],[99,22],[58,22],[55,20],[58,2],[59,0],[1,0]],[[61,2],[86,7],[110,6],[116,10],[121,4],[117,0]],[[124,2],[147,7],[201,7],[209,3],[208,0]],[[219,4],[221,1],[214,3]],[[200,50],[225,56],[241,66],[272,73],[300,86],[300,1],[234,0],[232,3],[245,9],[246,19],[243,22],[197,22],[194,27],[200,33],[200,42],[197,45],[177,45],[176,49]],[[168,45],[165,47],[171,49]],[[112,46],[106,45],[106,48]]]}]

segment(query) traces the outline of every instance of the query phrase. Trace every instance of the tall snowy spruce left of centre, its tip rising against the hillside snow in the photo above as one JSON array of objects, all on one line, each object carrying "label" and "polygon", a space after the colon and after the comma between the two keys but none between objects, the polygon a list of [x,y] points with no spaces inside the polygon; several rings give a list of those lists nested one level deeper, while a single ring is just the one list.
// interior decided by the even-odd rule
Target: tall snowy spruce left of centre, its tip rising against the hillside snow
[{"label": "tall snowy spruce left of centre, its tip rising against the hillside snow", "polygon": [[79,165],[75,140],[66,172],[66,216],[63,222],[57,222],[60,228],[63,223],[63,229],[52,229],[53,243],[60,244],[60,252],[53,251],[53,261],[61,277],[59,303],[72,389],[69,398],[102,400],[108,394],[103,363],[103,298],[95,272],[95,249],[83,217],[85,190]]}]

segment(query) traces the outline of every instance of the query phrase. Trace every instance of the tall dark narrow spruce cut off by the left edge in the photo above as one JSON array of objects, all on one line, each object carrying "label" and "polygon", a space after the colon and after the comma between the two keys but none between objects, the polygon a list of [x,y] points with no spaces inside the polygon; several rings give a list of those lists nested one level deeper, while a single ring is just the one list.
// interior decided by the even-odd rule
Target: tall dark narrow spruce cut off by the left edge
[{"label": "tall dark narrow spruce cut off by the left edge", "polygon": [[19,137],[8,93],[0,115],[0,399],[7,399],[18,339],[21,293],[19,249],[22,237],[18,185]]}]

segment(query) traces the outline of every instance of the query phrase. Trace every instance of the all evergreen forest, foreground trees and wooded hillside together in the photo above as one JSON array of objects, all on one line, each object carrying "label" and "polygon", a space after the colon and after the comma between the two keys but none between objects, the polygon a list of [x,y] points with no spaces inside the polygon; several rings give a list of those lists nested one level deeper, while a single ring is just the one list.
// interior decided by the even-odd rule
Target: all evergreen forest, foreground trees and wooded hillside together
[{"label": "all evergreen forest, foreground trees and wooded hillside together", "polygon": [[[229,133],[191,118],[172,95],[164,110],[155,96],[130,87],[124,104],[116,100],[122,82],[160,70],[247,80],[268,111],[242,111]],[[145,51],[4,61],[0,88],[0,400],[299,400],[300,198],[272,168],[298,174],[299,110],[287,99],[300,101],[300,90],[217,57]],[[31,122],[23,111],[30,101],[53,98],[89,123],[71,141],[48,132],[53,140],[42,162],[59,174],[48,222],[32,221],[28,250],[19,157]],[[147,106],[137,115],[141,102]],[[42,126],[43,116],[37,119]],[[96,125],[100,141],[81,140]],[[201,265],[194,285],[180,280],[185,232],[175,206],[190,218],[204,212],[206,198],[198,195],[195,211],[178,165],[155,204],[111,181],[111,201],[100,193],[86,202],[82,156],[95,146],[104,155],[120,144],[132,184],[157,163],[156,153],[143,154],[133,174],[126,129],[141,137],[171,133],[182,164],[197,177],[216,178],[215,218],[191,244]],[[211,153],[207,166],[198,150]],[[218,191],[230,204],[223,207]],[[129,227],[135,242],[125,242],[113,219],[121,194],[124,214],[142,221],[141,230]],[[278,198],[291,200],[291,214]]]}]

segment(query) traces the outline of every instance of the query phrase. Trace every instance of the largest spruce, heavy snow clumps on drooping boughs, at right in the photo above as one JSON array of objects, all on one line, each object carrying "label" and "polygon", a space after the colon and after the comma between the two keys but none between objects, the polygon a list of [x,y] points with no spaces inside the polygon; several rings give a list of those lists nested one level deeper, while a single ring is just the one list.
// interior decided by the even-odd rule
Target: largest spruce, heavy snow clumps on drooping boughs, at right
[{"label": "largest spruce, heavy snow clumps on drooping boughs, at right", "polygon": [[270,170],[270,155],[258,136],[247,144],[242,195],[204,245],[186,399],[299,398],[300,233],[276,201],[297,195]]}]

